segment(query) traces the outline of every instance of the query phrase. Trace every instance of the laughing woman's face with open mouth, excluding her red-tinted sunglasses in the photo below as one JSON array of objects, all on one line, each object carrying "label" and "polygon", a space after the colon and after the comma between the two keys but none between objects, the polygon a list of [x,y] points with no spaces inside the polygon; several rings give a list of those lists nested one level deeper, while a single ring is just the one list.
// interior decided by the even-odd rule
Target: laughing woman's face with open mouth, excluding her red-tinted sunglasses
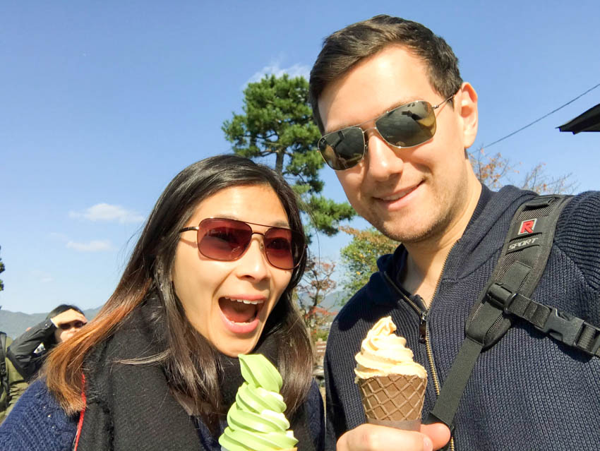
[{"label": "laughing woman's face with open mouth, excluding her red-tinted sunglasses", "polygon": [[[203,200],[186,227],[224,217],[270,227],[289,227],[275,191],[267,185],[232,186]],[[268,227],[251,224],[264,233]],[[172,280],[190,323],[227,356],[256,347],[265,323],[292,277],[292,270],[270,265],[263,236],[253,234],[237,260],[211,260],[198,251],[195,230],[184,231],[176,249]]]}]

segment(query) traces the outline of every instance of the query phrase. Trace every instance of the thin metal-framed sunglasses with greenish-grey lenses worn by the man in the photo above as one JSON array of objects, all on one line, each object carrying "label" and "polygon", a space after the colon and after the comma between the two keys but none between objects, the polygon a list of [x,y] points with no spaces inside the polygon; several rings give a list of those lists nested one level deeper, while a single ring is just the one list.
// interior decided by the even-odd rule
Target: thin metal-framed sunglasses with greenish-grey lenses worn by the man
[{"label": "thin metal-framed sunglasses with greenish-grey lenses worn by the man", "polygon": [[379,116],[375,119],[375,126],[366,130],[358,124],[327,133],[318,142],[319,152],[331,169],[343,171],[356,166],[364,158],[368,142],[365,133],[369,130],[378,131],[381,138],[395,148],[412,148],[426,143],[436,134],[434,110],[455,95],[433,106],[425,100],[400,105]]}]

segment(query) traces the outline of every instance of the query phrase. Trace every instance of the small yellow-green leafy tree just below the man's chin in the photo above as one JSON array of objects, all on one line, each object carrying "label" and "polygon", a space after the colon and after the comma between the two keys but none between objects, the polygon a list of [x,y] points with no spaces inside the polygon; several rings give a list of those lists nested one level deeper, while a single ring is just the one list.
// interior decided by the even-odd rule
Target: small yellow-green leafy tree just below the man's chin
[{"label": "small yellow-green leafy tree just below the man's chin", "polygon": [[352,235],[352,241],[340,251],[342,263],[347,270],[344,289],[355,293],[368,282],[371,274],[377,271],[377,259],[381,255],[394,252],[400,243],[373,228],[357,230],[342,227],[342,230]]}]

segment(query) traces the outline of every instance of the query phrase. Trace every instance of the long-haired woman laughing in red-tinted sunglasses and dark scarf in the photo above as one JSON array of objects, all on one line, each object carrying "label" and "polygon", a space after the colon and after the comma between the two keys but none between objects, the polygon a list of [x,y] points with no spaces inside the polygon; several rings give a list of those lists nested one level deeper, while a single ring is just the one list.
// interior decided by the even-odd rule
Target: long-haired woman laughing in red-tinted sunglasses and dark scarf
[{"label": "long-haired woman laughing in red-tinted sunglasses and dark scarf", "polygon": [[0,449],[220,451],[238,356],[263,354],[298,450],[322,450],[323,399],[292,299],[305,265],[280,175],[236,155],[191,164],[157,200],[114,294],[4,421]]}]

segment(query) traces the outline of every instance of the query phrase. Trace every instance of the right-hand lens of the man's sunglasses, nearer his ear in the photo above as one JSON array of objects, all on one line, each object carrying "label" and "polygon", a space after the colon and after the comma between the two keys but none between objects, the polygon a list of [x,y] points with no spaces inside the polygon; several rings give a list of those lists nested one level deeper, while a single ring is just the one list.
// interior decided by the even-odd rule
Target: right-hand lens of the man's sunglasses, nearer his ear
[{"label": "right-hand lens of the man's sunglasses, nearer his ear", "polygon": [[402,105],[377,119],[377,130],[391,145],[410,148],[425,143],[436,133],[436,115],[428,102]]}]

